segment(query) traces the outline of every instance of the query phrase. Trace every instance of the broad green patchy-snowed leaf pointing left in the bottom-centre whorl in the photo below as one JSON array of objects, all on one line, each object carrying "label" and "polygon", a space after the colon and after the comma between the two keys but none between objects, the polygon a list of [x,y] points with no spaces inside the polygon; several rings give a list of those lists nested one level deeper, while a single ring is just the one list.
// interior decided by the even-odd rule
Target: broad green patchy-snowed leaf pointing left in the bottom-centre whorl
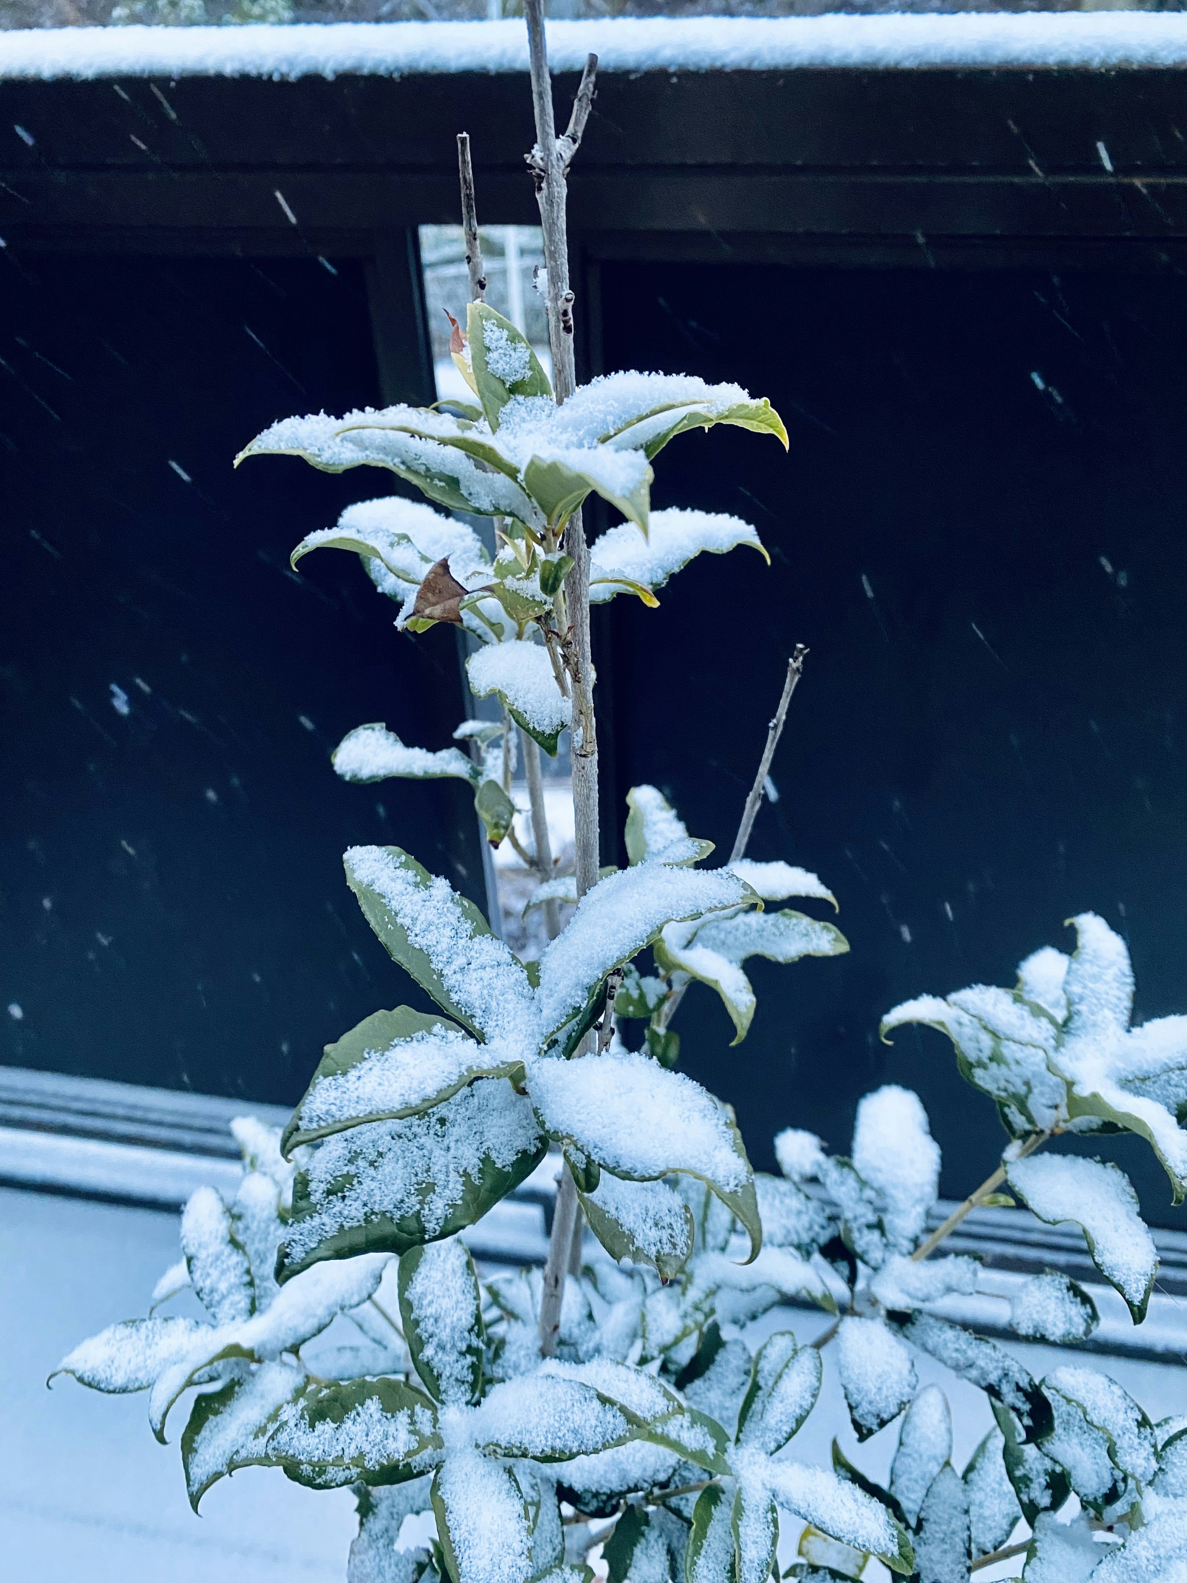
[{"label": "broad green patchy-snowed leaf pointing left in the bottom-centre whorl", "polygon": [[280,1410],[266,1455],[290,1479],[326,1488],[416,1479],[440,1460],[437,1412],[400,1379],[310,1382]]}]

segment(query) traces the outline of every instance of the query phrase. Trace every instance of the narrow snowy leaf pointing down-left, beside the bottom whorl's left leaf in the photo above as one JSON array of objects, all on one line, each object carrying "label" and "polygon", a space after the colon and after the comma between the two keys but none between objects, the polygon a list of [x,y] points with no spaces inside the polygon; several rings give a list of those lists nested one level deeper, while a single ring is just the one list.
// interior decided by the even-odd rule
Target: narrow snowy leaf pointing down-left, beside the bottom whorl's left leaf
[{"label": "narrow snowy leaf pointing down-left, beside the bottom whorl's left leaf", "polygon": [[305,1374],[288,1363],[264,1363],[245,1379],[195,1396],[182,1431],[182,1466],[190,1505],[239,1467],[267,1466],[267,1431],[280,1409],[302,1393]]}]

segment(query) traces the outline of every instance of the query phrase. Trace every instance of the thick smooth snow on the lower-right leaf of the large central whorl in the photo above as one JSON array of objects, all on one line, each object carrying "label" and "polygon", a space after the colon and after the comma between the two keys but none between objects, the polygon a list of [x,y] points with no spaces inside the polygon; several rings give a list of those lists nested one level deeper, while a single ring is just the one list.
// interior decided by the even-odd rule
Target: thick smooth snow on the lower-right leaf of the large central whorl
[{"label": "thick smooth snow on the lower-right leaf of the large central whorl", "polygon": [[[549,950],[573,934],[576,920]],[[541,962],[541,991],[546,964],[548,955]],[[612,1175],[650,1181],[682,1171],[707,1183],[747,1228],[750,1254],[757,1255],[763,1233],[733,1111],[692,1078],[665,1072],[647,1056],[608,1050],[581,1061],[537,1061],[529,1086],[549,1137]]]}]

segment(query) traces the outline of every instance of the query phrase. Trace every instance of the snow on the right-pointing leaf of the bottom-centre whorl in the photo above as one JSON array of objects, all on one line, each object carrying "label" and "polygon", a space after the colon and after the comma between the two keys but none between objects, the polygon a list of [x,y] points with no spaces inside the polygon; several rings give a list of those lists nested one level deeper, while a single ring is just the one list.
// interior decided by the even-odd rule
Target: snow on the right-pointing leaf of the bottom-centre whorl
[{"label": "snow on the right-pointing leaf of the bottom-centre whorl", "polygon": [[627,1415],[592,1384],[559,1372],[495,1385],[467,1420],[467,1434],[481,1450],[540,1463],[594,1456],[635,1433]]}]

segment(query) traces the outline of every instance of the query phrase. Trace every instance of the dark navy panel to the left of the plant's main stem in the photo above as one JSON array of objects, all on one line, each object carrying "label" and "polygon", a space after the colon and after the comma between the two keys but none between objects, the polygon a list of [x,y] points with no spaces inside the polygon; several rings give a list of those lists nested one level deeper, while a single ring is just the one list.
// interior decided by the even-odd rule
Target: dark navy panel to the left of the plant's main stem
[{"label": "dark navy panel to the left of the plant's main stem", "polygon": [[364,720],[440,747],[461,717],[451,633],[397,638],[353,556],[288,568],[389,475],[231,470],[274,418],[375,400],[358,263],[6,268],[5,1062],[293,1100],[326,1040],[416,994],[343,848],[396,841],[481,901],[461,784],[329,766]]}]

